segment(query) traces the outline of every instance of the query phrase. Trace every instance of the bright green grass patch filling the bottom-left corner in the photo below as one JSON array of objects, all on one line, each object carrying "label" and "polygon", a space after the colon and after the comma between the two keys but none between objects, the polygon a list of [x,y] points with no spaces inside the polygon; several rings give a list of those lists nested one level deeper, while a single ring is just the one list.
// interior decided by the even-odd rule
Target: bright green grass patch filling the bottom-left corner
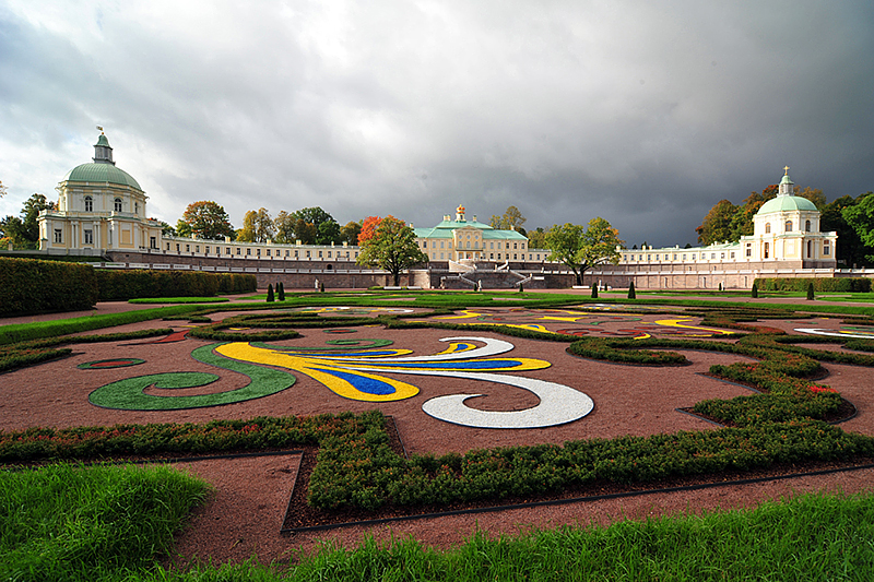
[{"label": "bright green grass patch filling the bottom-left corner", "polygon": [[0,472],[0,580],[154,572],[209,486],[169,467],[61,464]]}]

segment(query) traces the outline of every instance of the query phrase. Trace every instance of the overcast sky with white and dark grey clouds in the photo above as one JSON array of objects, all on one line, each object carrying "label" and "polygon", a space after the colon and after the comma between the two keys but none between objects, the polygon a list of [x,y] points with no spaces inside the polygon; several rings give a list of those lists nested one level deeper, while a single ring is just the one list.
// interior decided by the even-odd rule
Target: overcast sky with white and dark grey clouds
[{"label": "overcast sky with white and dark grey clouds", "polygon": [[0,0],[0,215],[104,126],[149,214],[602,216],[695,244],[780,180],[874,190],[874,2]]}]

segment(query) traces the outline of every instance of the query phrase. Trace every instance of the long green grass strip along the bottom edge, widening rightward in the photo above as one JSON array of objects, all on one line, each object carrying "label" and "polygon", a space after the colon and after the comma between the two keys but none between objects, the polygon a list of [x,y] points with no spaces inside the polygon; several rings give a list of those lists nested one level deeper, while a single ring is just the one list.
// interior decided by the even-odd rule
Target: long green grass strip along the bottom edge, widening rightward
[{"label": "long green grass strip along the bottom edge, widening rightward", "polygon": [[805,495],[711,512],[520,535],[476,533],[449,550],[411,538],[331,544],[291,567],[248,562],[158,580],[870,580],[874,497]]}]

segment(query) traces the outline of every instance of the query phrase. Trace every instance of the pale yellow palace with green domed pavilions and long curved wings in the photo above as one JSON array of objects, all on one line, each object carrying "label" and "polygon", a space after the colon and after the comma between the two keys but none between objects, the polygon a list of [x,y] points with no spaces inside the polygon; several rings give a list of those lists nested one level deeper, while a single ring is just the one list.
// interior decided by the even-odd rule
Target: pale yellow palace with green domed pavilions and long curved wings
[{"label": "pale yellow palace with green domed pavilions and long curved wings", "polygon": [[[103,131],[92,162],[71,169],[57,190],[57,210],[43,211],[38,218],[39,248],[47,254],[102,256],[121,266],[145,269],[307,275],[355,272],[357,281],[363,281],[362,269],[355,264],[361,249],[355,246],[163,235],[162,223],[147,217],[145,192],[130,174],[116,166]],[[763,204],[753,222],[753,235],[737,242],[685,249],[621,248],[618,264],[595,265],[586,277],[614,287],[634,281],[639,288],[749,288],[757,277],[870,276],[837,269],[837,234],[820,231],[819,211],[811,201],[794,195],[789,167],[784,168],[779,193]],[[510,280],[529,282],[525,285],[572,284],[564,265],[548,261],[548,250],[532,249],[521,233],[493,228],[475,215],[468,221],[461,205],[454,219],[445,215],[436,226],[414,228],[414,233],[429,260],[423,269],[414,270],[417,274],[411,272],[411,280],[423,287],[446,286],[456,278],[459,285],[471,285],[488,271],[508,273]],[[498,275],[492,278],[494,285],[503,285]]]}]

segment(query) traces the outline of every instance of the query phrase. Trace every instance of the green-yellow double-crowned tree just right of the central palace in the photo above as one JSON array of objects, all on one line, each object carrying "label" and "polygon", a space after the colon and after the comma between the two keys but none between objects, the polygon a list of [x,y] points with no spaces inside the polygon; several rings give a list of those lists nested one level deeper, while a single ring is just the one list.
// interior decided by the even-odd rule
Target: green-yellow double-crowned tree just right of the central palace
[{"label": "green-yellow double-crowned tree just right of the central palace", "polygon": [[618,264],[622,254],[616,247],[624,244],[619,239],[619,231],[600,216],[589,221],[588,227],[566,223],[563,226],[554,225],[546,233],[550,260],[567,265],[580,286],[582,275],[592,266],[603,263]]}]

